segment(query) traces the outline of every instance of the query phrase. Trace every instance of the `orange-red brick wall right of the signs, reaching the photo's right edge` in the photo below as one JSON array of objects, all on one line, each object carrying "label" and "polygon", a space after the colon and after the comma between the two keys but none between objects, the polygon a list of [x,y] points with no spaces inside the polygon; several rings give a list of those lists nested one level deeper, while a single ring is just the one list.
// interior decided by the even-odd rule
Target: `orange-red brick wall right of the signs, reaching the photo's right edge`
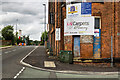
[{"label": "orange-red brick wall right of the signs, reaching the photo's right edge", "polygon": [[[120,2],[104,4],[92,3],[92,14],[100,13],[101,16],[101,56],[102,58],[110,58],[111,55],[111,31],[113,36],[113,55],[120,57],[120,49],[118,49],[119,37],[117,36],[120,25]],[[115,14],[114,14],[115,13]],[[112,28],[111,28],[112,27]],[[119,54],[118,54],[119,53]]]}]

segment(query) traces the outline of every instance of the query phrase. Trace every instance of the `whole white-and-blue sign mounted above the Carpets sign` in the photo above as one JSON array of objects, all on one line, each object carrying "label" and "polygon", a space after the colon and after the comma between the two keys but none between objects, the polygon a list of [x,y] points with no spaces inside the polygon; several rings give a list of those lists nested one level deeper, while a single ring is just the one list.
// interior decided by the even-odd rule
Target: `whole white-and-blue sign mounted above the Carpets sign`
[{"label": "whole white-and-blue sign mounted above the Carpets sign", "polygon": [[80,16],[91,16],[92,3],[83,2],[67,5],[66,18],[74,18]]}]

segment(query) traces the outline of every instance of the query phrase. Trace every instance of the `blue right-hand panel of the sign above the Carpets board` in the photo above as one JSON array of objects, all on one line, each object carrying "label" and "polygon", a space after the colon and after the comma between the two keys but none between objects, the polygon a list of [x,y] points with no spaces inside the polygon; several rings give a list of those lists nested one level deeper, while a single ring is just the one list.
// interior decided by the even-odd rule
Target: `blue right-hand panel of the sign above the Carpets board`
[{"label": "blue right-hand panel of the sign above the Carpets board", "polygon": [[81,15],[91,15],[92,3],[81,3]]}]

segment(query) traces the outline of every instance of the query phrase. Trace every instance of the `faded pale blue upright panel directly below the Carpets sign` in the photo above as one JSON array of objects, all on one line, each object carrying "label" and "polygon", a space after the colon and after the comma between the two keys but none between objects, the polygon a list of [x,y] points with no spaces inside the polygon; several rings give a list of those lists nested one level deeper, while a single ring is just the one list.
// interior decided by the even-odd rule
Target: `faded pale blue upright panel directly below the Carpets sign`
[{"label": "faded pale blue upright panel directly below the Carpets sign", "polygon": [[74,57],[80,57],[80,37],[74,37]]}]

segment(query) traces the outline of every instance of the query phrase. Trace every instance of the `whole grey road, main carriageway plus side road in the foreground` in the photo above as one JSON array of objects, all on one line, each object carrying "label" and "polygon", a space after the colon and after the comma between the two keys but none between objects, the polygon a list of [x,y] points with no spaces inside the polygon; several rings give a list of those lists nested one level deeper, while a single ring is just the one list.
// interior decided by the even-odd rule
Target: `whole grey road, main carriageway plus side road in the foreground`
[{"label": "whole grey road, main carriageway plus side road in the foreground", "polygon": [[[41,80],[43,78],[57,80],[118,80],[118,74],[64,74],[49,71],[41,71],[20,64],[20,60],[30,53],[36,46],[16,46],[2,50],[2,77],[3,78],[29,78],[28,80]],[[18,74],[18,76],[16,76]],[[109,79],[108,79],[109,78]],[[56,79],[55,79],[56,80]]]}]

